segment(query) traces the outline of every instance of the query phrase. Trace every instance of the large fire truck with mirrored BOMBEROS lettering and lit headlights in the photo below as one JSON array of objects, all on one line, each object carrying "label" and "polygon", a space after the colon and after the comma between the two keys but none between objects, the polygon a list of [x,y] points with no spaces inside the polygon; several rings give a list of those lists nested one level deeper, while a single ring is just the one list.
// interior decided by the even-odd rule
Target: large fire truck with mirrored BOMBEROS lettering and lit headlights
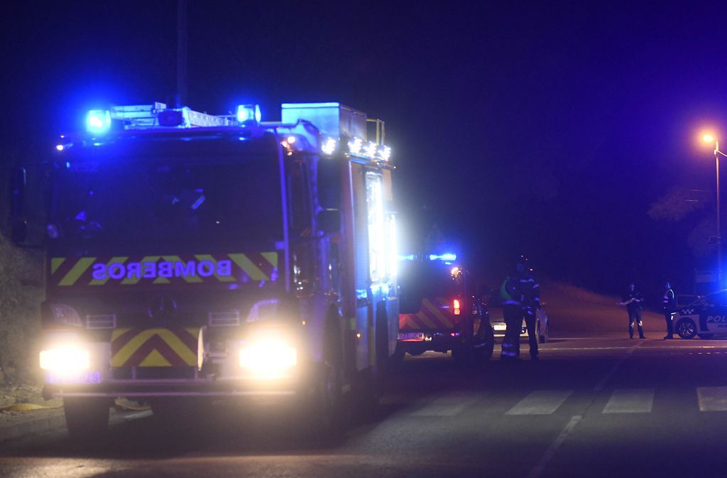
[{"label": "large fire truck with mirrored BOMBEROS lettering and lit headlights", "polygon": [[72,436],[103,433],[116,397],[160,416],[283,399],[322,430],[343,397],[375,401],[398,333],[383,122],[340,103],[283,104],[280,122],[152,103],[86,126],[60,137],[44,188],[40,367]]}]

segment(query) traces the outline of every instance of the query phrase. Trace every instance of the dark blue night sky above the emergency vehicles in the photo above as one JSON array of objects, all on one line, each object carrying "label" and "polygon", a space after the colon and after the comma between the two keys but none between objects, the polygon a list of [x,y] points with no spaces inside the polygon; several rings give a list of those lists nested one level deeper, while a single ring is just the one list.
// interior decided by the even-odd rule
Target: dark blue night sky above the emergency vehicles
[{"label": "dark blue night sky above the emergency vehicles", "polygon": [[[46,154],[90,108],[174,103],[175,1],[1,9],[4,164]],[[483,277],[523,253],[595,290],[690,292],[714,257],[697,135],[727,145],[724,16],[696,1],[191,0],[188,105],[260,103],[273,121],[280,103],[340,101],[384,119],[405,247],[438,223]]]}]

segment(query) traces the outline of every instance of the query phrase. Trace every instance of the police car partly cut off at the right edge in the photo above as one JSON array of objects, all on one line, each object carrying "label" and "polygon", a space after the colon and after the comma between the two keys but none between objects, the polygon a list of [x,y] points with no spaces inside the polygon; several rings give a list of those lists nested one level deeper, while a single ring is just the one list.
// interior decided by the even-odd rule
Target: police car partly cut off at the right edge
[{"label": "police car partly cut off at the right edge", "polygon": [[674,331],[681,338],[727,335],[727,289],[705,295],[672,314]]}]

